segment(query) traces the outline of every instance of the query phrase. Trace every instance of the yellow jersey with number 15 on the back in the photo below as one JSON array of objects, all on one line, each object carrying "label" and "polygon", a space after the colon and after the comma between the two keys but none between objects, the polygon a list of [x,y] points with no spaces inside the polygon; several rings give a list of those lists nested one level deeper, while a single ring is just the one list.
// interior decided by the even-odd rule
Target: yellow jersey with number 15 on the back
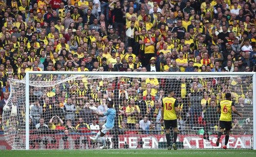
[{"label": "yellow jersey with number 15 on the back", "polygon": [[175,98],[165,97],[162,99],[163,107],[163,119],[164,120],[177,120],[175,107],[177,107],[177,102]]}]

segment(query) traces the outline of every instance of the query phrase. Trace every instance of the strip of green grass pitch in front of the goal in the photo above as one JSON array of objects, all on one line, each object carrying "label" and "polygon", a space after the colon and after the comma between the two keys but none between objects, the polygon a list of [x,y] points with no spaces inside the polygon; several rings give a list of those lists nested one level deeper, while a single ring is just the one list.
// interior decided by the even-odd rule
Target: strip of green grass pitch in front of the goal
[{"label": "strip of green grass pitch in front of the goal", "polygon": [[254,150],[0,150],[0,157],[256,157]]}]

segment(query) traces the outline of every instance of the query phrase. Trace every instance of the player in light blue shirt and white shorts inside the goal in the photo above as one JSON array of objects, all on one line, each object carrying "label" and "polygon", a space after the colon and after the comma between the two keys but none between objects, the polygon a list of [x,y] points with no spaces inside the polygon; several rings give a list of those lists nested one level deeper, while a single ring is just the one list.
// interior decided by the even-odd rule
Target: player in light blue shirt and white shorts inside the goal
[{"label": "player in light blue shirt and white shorts inside the goal", "polygon": [[115,117],[116,117],[116,110],[113,108],[114,102],[113,101],[109,101],[107,103],[107,107],[109,108],[108,110],[106,109],[106,105],[105,105],[105,109],[106,112],[105,113],[97,113],[97,112],[92,112],[92,114],[96,114],[100,117],[104,117],[107,116],[107,122],[102,125],[102,127],[99,129],[99,132],[97,133],[96,137],[90,137],[91,140],[93,140],[94,142],[96,142],[98,140],[98,138],[100,137],[101,142],[103,144],[103,147],[100,147],[101,149],[107,149],[107,145],[106,145],[106,140],[104,138],[104,135],[110,131],[113,127],[114,127],[114,121],[115,121]]}]

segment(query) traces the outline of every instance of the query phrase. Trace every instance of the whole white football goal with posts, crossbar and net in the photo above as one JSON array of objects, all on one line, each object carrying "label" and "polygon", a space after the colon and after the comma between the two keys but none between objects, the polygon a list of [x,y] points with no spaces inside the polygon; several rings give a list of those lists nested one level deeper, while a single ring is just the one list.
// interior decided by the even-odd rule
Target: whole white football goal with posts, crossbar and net
[{"label": "whole white football goal with posts, crossbar and net", "polygon": [[117,111],[105,136],[109,148],[166,149],[159,118],[168,88],[175,91],[181,117],[178,149],[222,149],[225,136],[216,146],[216,110],[228,92],[243,117],[233,114],[227,147],[256,149],[255,72],[27,71],[23,80],[10,79],[10,86],[2,118],[12,149],[99,149],[101,141],[90,137],[105,119],[91,111],[104,112],[104,100],[113,100]]}]

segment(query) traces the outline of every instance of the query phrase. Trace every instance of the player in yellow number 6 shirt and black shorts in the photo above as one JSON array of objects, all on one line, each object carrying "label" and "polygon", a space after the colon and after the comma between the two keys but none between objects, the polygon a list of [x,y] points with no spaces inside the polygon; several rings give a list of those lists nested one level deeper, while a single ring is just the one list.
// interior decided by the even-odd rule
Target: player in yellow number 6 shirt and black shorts
[{"label": "player in yellow number 6 shirt and black shorts", "polygon": [[232,111],[238,116],[242,117],[242,114],[238,113],[235,108],[235,103],[231,101],[231,93],[226,93],[226,100],[219,103],[217,108],[217,113],[220,113],[219,118],[219,132],[216,146],[219,146],[219,140],[223,134],[224,128],[226,129],[225,145],[223,149],[227,149],[227,144],[229,140],[230,129],[232,129]]}]

